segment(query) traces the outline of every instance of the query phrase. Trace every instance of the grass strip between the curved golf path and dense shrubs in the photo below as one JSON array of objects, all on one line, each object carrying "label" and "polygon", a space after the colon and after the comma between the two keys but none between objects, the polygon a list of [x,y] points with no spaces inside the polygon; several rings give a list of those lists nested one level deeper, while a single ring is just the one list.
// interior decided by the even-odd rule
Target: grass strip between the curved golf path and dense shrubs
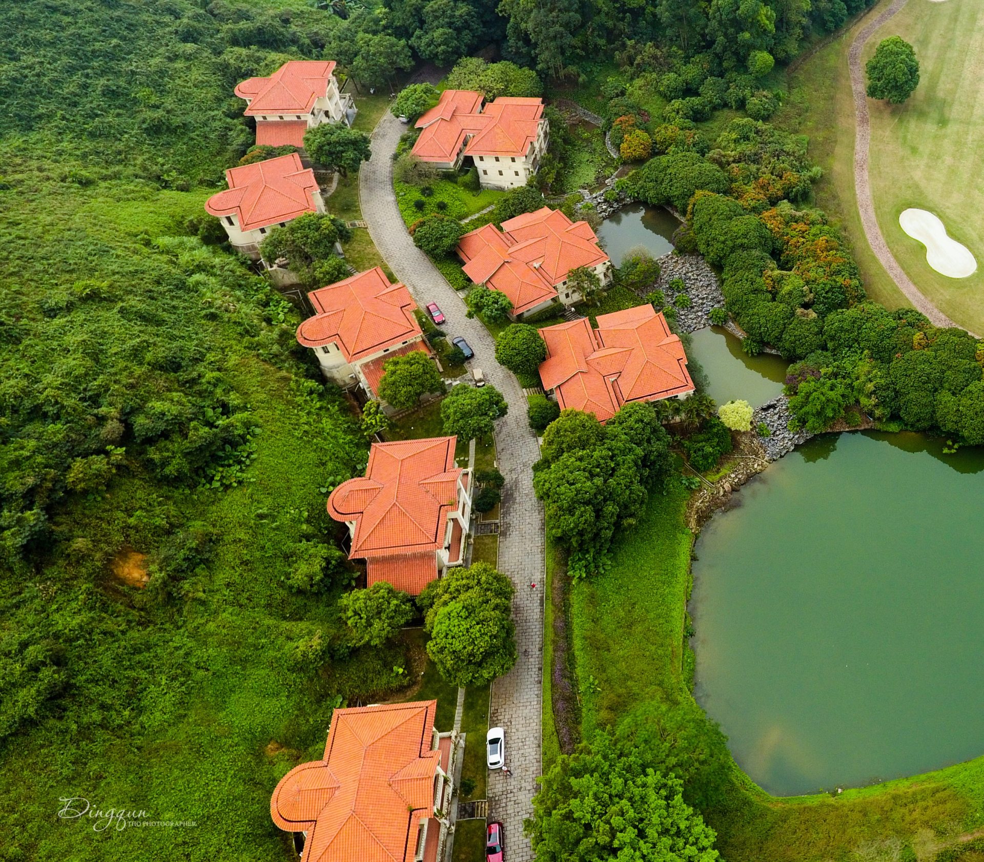
[{"label": "grass strip between the curved golf path and dense shrubs", "polygon": [[[883,0],[788,76],[788,97],[772,122],[809,137],[810,157],[824,171],[814,186],[816,206],[844,231],[868,295],[888,308],[898,308],[908,303],[869,247],[858,216],[853,168],[854,103],[847,73],[847,51],[854,33],[886,5],[888,0]],[[930,5],[915,3],[912,7]],[[932,6],[940,8],[937,4]],[[897,20],[896,15],[890,26]],[[873,146],[873,153],[874,150]]]}]

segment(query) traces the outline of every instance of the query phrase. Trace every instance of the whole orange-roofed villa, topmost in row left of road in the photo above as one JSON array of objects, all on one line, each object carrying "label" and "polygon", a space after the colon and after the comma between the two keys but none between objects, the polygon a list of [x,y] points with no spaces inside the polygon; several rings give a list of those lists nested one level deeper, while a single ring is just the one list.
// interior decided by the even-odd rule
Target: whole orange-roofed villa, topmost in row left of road
[{"label": "whole orange-roofed villa, topmost in row left of road", "polygon": [[288,60],[269,78],[248,78],[235,93],[256,119],[256,143],[304,146],[304,133],[322,123],[352,124],[355,104],[338,91],[334,60]]}]

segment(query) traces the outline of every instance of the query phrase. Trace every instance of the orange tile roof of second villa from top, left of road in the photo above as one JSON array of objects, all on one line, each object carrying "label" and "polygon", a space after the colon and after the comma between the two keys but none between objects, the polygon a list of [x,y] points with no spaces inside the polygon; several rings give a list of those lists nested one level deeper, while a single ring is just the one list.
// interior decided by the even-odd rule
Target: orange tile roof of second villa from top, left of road
[{"label": "orange tile roof of second villa from top, left of road", "polygon": [[318,181],[296,153],[229,168],[225,179],[228,189],[209,198],[205,209],[213,216],[236,216],[240,230],[317,212]]}]

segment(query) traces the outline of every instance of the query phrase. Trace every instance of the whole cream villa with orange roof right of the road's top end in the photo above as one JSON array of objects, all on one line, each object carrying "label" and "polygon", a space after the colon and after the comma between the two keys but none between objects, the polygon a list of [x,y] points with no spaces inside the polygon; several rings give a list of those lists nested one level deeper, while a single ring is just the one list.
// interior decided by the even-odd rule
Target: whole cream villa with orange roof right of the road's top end
[{"label": "whole cream villa with orange roof right of the road's top end", "polygon": [[550,124],[543,99],[499,96],[482,110],[482,94],[446,90],[416,122],[413,154],[441,170],[458,170],[470,156],[483,188],[524,186],[546,152]]}]

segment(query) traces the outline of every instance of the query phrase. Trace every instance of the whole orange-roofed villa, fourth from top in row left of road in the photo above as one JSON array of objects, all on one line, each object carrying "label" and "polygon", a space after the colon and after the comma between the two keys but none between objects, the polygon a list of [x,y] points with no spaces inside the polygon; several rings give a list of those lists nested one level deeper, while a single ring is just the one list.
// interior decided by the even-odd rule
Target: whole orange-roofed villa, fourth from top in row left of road
[{"label": "whole orange-roofed villa, fourth from top in row left of road", "polygon": [[455,437],[374,443],[364,477],[342,482],[328,514],[348,524],[349,559],[366,561],[366,585],[411,595],[464,562],[471,474],[455,463]]}]

